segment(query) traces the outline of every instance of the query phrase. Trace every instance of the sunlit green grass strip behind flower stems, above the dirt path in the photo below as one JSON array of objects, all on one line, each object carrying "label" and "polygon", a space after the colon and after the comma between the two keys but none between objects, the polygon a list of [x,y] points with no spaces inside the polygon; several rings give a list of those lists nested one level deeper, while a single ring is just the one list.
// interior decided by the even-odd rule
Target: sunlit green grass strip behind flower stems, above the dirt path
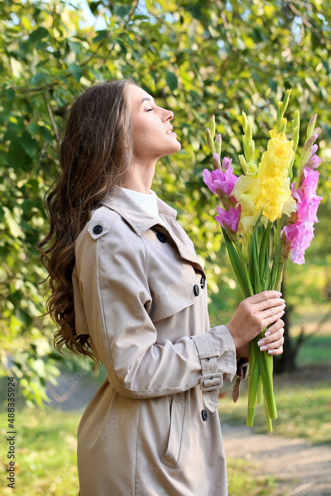
[{"label": "sunlit green grass strip behind flower stems, above the dirt path", "polygon": [[[244,382],[244,381],[243,381]],[[220,399],[218,412],[221,423],[246,426],[247,381],[242,382],[237,403],[232,401],[232,387],[226,385],[229,394]],[[274,396],[278,418],[272,421],[272,435],[308,438],[313,443],[331,442],[330,380],[296,383],[290,378],[274,377]],[[266,433],[264,404],[255,406],[253,432]]]}]

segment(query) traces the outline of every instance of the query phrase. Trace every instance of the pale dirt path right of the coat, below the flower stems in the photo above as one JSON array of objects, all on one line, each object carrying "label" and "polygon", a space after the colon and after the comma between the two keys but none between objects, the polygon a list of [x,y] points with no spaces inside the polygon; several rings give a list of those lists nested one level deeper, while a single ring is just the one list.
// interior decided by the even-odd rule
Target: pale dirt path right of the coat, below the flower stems
[{"label": "pale dirt path right of the coat, below the flower stems", "polygon": [[[331,496],[331,446],[312,446],[306,439],[252,434],[250,429],[222,425],[227,458],[252,461],[255,476],[274,475],[277,496]],[[252,474],[253,475],[253,474]],[[230,495],[229,495],[230,496]]]}]

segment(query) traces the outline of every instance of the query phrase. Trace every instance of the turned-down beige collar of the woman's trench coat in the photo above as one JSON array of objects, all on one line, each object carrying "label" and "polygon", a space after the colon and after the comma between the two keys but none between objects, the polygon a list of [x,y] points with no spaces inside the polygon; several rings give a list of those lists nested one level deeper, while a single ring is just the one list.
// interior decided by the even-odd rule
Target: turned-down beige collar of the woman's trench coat
[{"label": "turned-down beige collar of the woman's trench coat", "polygon": [[[132,227],[138,236],[141,236],[147,229],[159,224],[157,217],[147,212],[142,208],[139,203],[137,203],[128,193],[123,191],[122,188],[116,185],[116,188],[120,189],[119,195],[115,198],[113,196],[107,195],[103,201],[102,205],[115,210],[119,213]],[[168,205],[165,201],[161,200],[157,196],[157,207],[160,217],[166,216],[164,221],[167,223],[167,217],[176,220],[177,210]]]}]

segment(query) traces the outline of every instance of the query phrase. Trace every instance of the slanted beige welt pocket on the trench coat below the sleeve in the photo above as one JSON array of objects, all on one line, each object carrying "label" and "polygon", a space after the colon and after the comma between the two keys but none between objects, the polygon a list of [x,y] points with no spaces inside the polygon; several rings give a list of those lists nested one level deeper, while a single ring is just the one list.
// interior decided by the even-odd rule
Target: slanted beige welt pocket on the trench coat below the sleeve
[{"label": "slanted beige welt pocket on the trench coat below the sleeve", "polygon": [[160,459],[168,467],[178,462],[183,434],[185,400],[173,398],[170,413],[170,434],[167,451]]}]

